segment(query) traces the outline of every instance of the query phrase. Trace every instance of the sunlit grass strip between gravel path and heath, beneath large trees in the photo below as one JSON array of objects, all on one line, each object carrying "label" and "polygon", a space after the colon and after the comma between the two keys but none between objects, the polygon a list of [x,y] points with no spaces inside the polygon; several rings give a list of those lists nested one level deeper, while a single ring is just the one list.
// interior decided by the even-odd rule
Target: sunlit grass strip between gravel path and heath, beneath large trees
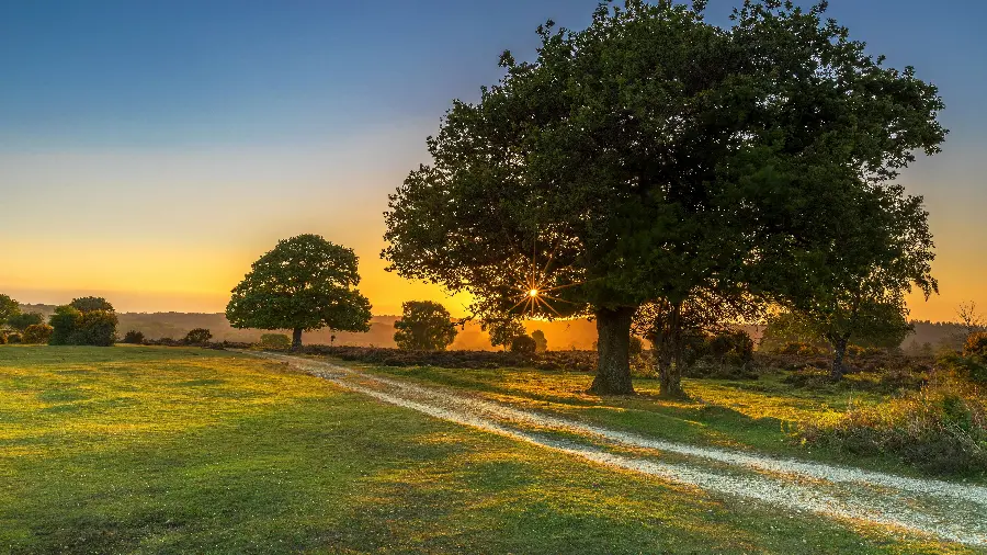
[{"label": "sunlit grass strip between gravel path and heath, beneath large trees", "polygon": [[[850,464],[909,476],[942,477],[893,456],[862,456],[799,444],[793,434],[798,422],[835,419],[850,406],[876,405],[887,400],[889,395],[852,388],[798,388],[784,383],[782,373],[764,374],[756,381],[687,378],[683,384],[690,399],[680,401],[659,397],[658,381],[647,378],[635,378],[637,395],[625,398],[588,394],[592,375],[578,372],[361,367],[421,384],[474,392],[494,400],[616,430],[642,432],[653,438]],[[957,476],[951,479],[955,478]],[[967,474],[958,478],[987,484],[987,477],[982,474]]]}]

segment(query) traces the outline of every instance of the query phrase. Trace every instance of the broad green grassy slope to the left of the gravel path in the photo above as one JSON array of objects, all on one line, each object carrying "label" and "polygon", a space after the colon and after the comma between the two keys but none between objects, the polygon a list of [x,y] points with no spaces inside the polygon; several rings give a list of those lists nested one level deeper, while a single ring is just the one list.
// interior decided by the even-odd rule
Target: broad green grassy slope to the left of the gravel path
[{"label": "broad green grassy slope to the left of the gravel path", "polygon": [[0,348],[0,551],[898,552],[432,420],[283,366]]}]

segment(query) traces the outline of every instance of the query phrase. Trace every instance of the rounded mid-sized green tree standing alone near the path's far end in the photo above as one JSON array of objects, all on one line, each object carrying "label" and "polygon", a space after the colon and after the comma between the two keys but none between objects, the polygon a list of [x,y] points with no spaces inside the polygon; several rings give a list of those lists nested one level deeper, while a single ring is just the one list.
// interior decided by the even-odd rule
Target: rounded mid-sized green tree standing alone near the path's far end
[{"label": "rounded mid-sized green tree standing alone near the path's far end", "polygon": [[356,263],[353,249],[317,235],[279,241],[232,290],[226,317],[235,328],[291,329],[294,348],[303,331],[370,331]]}]

